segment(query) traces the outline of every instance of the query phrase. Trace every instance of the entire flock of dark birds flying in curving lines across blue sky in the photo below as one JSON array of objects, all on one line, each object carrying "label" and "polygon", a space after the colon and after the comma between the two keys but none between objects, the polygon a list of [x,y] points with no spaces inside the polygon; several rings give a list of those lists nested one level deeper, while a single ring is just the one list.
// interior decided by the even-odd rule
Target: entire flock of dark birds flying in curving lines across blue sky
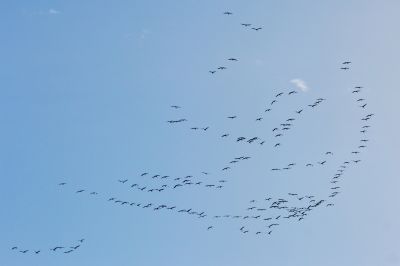
[{"label": "entire flock of dark birds flying in curving lines across blue sky", "polygon": [[[227,16],[233,15],[233,13],[229,11],[226,11],[223,14]],[[260,31],[262,29],[262,27],[253,26],[250,23],[242,23],[241,25],[254,31]],[[230,57],[227,60],[229,62],[239,61],[239,59],[235,57]],[[350,61],[345,61],[339,68],[340,70],[348,71],[350,70],[350,65]],[[217,71],[222,71],[225,69],[227,69],[226,66],[219,66],[216,70],[210,70],[209,72],[211,74],[215,74]],[[97,197],[108,204],[114,204],[124,208],[142,209],[153,212],[168,211],[179,215],[187,215],[196,219],[201,219],[207,223],[207,231],[213,230],[223,221],[231,221],[237,224],[237,231],[241,234],[269,236],[285,221],[294,220],[300,222],[317,208],[334,206],[333,199],[341,192],[341,180],[349,168],[358,165],[361,162],[360,154],[367,148],[367,143],[369,142],[367,137],[368,130],[371,127],[369,122],[374,117],[374,114],[367,111],[366,99],[361,96],[362,89],[363,88],[361,86],[355,86],[351,91],[351,95],[354,96],[354,103],[365,111],[365,114],[360,118],[361,123],[359,128],[359,143],[355,145],[354,149],[348,152],[346,159],[342,160],[342,162],[335,169],[335,172],[333,172],[329,177],[329,194],[325,197],[295,192],[287,193],[287,195],[283,197],[264,195],[259,199],[250,200],[247,207],[238,213],[210,213],[206,210],[182,207],[167,202],[129,200],[118,195],[109,195],[107,193],[100,193],[98,191],[93,191],[86,188],[71,187],[71,192],[74,192],[77,195],[86,194],[91,197]],[[295,97],[298,93],[299,92],[297,90],[279,91],[274,93],[274,95],[272,95],[272,99],[263,108],[263,114],[255,115],[253,122],[263,123],[264,118],[273,112],[275,106],[280,101],[284,101],[285,97]],[[213,131],[221,141],[231,141],[238,145],[258,145],[258,147],[266,147],[271,150],[276,150],[285,144],[285,136],[288,132],[293,130],[295,124],[300,122],[302,117],[307,112],[316,110],[321,104],[324,104],[325,101],[327,101],[327,99],[317,98],[301,108],[294,109],[292,115],[282,120],[280,123],[272,125],[269,133],[265,136],[242,136],[235,134],[235,132],[217,130],[210,125],[196,125],[195,122],[190,121],[190,119],[180,113],[183,107],[179,105],[171,105],[170,107],[177,111],[180,117],[170,119],[167,121],[167,123],[172,127],[182,125],[183,127],[179,127],[180,129],[198,131],[204,134]],[[240,115],[232,114],[223,119],[236,121],[240,119]],[[333,158],[333,156],[334,153],[332,151],[324,151],[319,160],[302,163],[289,162],[283,166],[273,167],[270,169],[270,171],[278,173],[281,171],[289,171],[295,167],[325,167],[331,158]],[[146,171],[138,173],[138,176],[134,177],[134,180],[131,178],[120,178],[116,181],[125,186],[127,189],[137,193],[163,193],[167,191],[172,193],[174,191],[187,188],[221,190],[227,187],[229,179],[220,178],[220,176],[222,174],[229,173],[229,171],[231,171],[234,167],[239,167],[242,163],[252,160],[253,158],[254,156],[249,156],[248,154],[232,156],[232,158],[227,160],[226,164],[221,165],[219,169],[212,171],[214,174],[211,174],[209,171],[201,171],[199,173],[173,176]],[[66,187],[68,183],[61,182],[58,185],[60,187]],[[80,243],[82,242],[83,239],[80,240]],[[67,254],[74,252],[79,247],[80,244],[73,245],[71,247],[54,247],[51,250],[54,252],[59,250]],[[19,251],[20,253],[29,252],[29,250],[19,249],[18,247],[12,247],[12,250]],[[41,251],[32,250],[32,252],[39,254]]]}]

